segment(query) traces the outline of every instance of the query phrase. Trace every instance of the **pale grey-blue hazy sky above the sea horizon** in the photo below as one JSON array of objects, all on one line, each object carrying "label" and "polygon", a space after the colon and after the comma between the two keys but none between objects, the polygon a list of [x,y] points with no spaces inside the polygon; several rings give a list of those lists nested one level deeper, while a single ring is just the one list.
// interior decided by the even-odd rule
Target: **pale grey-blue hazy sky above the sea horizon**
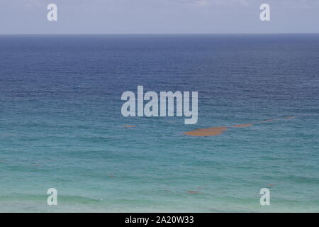
[{"label": "pale grey-blue hazy sky above the sea horizon", "polygon": [[0,34],[79,33],[319,33],[319,0],[0,0]]}]

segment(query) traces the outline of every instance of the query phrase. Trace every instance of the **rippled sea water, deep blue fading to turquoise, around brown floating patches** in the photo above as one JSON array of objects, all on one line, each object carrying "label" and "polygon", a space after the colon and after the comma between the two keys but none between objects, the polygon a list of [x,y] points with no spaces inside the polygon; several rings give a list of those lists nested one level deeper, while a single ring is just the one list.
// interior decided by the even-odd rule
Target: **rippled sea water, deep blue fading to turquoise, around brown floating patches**
[{"label": "rippled sea water, deep blue fading to turquoise, around brown floating patches", "polygon": [[[0,36],[0,211],[318,212],[318,62],[319,35]],[[124,118],[138,85],[198,91],[198,123]]]}]

